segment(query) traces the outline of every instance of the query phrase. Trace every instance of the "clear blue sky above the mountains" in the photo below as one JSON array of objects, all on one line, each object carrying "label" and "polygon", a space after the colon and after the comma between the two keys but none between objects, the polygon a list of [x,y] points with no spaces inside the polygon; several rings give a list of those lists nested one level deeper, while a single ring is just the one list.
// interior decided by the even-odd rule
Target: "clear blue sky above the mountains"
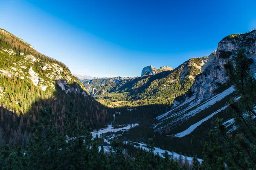
[{"label": "clear blue sky above the mountains", "polygon": [[[139,2],[140,1],[140,2]],[[0,0],[0,28],[73,74],[135,77],[256,28],[255,0]]]}]

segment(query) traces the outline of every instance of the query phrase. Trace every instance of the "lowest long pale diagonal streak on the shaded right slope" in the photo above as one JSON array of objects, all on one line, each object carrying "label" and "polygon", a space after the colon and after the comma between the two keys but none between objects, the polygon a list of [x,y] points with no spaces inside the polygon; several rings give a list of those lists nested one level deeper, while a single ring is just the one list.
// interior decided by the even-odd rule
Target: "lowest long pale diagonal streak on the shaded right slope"
[{"label": "lowest long pale diagonal streak on the shaded right slope", "polygon": [[183,137],[188,135],[189,133],[191,133],[192,131],[195,130],[196,127],[198,127],[199,125],[201,125],[203,122],[207,121],[208,119],[210,119],[212,116],[214,116],[215,114],[217,114],[220,111],[223,111],[224,109],[226,109],[228,107],[228,105],[218,109],[218,111],[215,111],[214,113],[210,114],[209,116],[207,116],[206,118],[200,120],[199,122],[195,123],[194,125],[191,125],[189,128],[187,128],[186,130],[184,130],[183,132],[177,133],[175,135],[175,137]]}]

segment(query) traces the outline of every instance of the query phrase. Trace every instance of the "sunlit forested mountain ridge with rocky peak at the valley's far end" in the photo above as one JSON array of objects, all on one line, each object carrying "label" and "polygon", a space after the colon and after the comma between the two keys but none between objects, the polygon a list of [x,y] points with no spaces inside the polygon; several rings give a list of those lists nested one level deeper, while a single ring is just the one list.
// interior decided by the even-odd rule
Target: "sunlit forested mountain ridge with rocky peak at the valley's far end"
[{"label": "sunlit forested mountain ridge with rocky peak at the valley's far end", "polygon": [[[204,71],[212,57],[192,58],[175,69],[161,67],[161,70],[157,69],[158,73],[152,66],[148,66],[143,68],[146,72],[142,77],[105,81],[101,84],[91,83],[99,82],[93,79],[84,82],[84,86],[96,99],[107,105],[170,105],[175,97],[188,91],[195,76]],[[152,71],[153,75],[146,75]]]}]

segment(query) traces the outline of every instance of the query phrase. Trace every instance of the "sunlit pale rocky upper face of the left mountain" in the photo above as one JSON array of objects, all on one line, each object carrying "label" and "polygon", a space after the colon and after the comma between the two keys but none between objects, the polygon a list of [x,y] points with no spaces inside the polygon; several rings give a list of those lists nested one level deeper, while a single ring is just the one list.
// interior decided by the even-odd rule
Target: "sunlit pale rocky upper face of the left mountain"
[{"label": "sunlit pale rocky upper face of the left mountain", "polygon": [[[0,35],[4,35],[9,38],[17,39],[14,35],[8,33],[7,31],[0,29]],[[74,77],[71,72],[68,70],[63,63],[58,62],[56,60],[48,61],[44,58],[43,54],[40,54],[35,51],[32,46],[21,39],[18,39],[17,43],[26,45],[31,52],[20,52],[17,57],[17,53],[15,53],[14,49],[10,46],[0,46],[0,54],[2,59],[8,59],[6,56],[12,58],[18,58],[14,60],[12,63],[8,65],[3,65],[0,68],[0,75],[7,77],[20,77],[20,79],[24,79],[24,81],[32,82],[33,85],[41,88],[43,91],[53,91],[55,90],[55,85],[59,85],[59,81],[65,81],[64,84],[76,84],[66,92],[73,91],[77,94],[89,95],[86,89],[83,87],[81,82]],[[25,43],[25,44],[24,44]],[[33,54],[32,54],[33,53]],[[7,62],[7,60],[6,60]],[[1,85],[0,85],[1,87]],[[76,88],[76,89],[75,89]],[[82,92],[84,91],[84,92]]]}]

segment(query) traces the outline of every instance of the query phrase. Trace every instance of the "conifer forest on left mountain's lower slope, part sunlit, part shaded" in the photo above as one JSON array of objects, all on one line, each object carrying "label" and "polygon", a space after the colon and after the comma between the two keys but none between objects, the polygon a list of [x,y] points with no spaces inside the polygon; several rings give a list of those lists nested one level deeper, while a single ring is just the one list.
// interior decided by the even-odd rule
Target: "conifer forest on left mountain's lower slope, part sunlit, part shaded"
[{"label": "conifer forest on left mountain's lower slope, part sunlit, part shaded", "polygon": [[110,109],[93,98],[89,99],[87,96],[74,93],[67,95],[57,85],[56,91],[53,92],[55,98],[52,98],[49,96],[49,91],[42,91],[41,88],[24,79],[0,76],[0,82],[5,87],[5,96],[1,103],[4,108],[0,108],[0,127],[3,131],[0,145],[8,143],[12,147],[16,143],[26,145],[30,130],[41,116],[39,109],[42,107],[52,106],[55,112],[54,125],[58,132],[63,132],[64,117],[66,111],[70,109],[70,100],[76,103],[74,111],[78,113],[78,121],[85,120],[93,129],[105,127],[113,121],[113,116],[109,113]]}]

